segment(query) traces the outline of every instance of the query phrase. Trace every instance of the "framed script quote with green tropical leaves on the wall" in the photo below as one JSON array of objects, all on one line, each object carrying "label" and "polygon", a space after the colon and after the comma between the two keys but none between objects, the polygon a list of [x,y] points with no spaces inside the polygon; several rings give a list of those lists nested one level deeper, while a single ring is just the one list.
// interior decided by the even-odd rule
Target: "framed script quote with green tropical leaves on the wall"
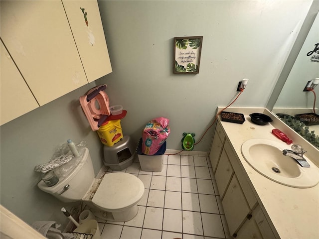
[{"label": "framed script quote with green tropical leaves on the wall", "polygon": [[174,37],[174,74],[198,74],[203,36]]}]

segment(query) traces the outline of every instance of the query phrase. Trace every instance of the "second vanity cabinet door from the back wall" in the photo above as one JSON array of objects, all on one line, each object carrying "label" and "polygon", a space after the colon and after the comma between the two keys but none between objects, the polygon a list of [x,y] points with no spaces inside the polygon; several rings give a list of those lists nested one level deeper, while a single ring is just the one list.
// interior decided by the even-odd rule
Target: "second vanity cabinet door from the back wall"
[{"label": "second vanity cabinet door from the back wall", "polygon": [[227,185],[233,174],[233,168],[231,167],[231,164],[228,160],[225,149],[223,149],[215,173],[216,184],[221,198],[223,198]]}]

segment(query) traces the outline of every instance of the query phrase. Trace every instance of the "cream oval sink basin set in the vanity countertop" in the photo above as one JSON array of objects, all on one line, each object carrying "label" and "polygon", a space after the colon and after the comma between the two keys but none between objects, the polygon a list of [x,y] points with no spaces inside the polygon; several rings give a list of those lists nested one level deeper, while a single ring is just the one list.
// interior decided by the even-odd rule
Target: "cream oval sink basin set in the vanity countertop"
[{"label": "cream oval sink basin set in the vanity countertop", "polygon": [[319,182],[319,170],[304,155],[310,167],[301,167],[295,159],[283,155],[291,145],[269,139],[249,139],[241,146],[247,163],[265,177],[290,187],[310,188]]}]

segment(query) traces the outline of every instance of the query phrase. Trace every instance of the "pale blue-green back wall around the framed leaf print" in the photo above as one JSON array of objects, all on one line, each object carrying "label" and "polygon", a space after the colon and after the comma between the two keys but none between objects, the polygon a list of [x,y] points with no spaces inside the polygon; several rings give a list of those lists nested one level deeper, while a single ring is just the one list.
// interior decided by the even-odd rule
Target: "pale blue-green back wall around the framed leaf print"
[{"label": "pale blue-green back wall around the framed leaf print", "polygon": [[[166,117],[167,148],[181,149],[182,133],[198,140],[243,78],[250,80],[234,106],[266,106],[310,4],[99,1],[113,73],[98,83],[108,85],[111,104],[128,111],[123,132],[138,140],[150,119]],[[173,37],[201,35],[199,74],[174,75]],[[209,150],[212,130],[195,151]]]}]

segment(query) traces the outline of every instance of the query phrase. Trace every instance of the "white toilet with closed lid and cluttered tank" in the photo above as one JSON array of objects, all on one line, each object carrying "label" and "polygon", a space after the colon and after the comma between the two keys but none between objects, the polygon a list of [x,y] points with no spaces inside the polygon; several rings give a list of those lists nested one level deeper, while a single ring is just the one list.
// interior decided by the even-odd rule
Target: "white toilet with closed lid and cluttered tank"
[{"label": "white toilet with closed lid and cluttered tank", "polygon": [[[115,222],[126,222],[138,213],[138,202],[144,195],[144,184],[129,173],[114,172],[105,174],[102,179],[94,178],[94,169],[89,150],[80,151],[75,168],[62,176],[59,181],[48,187],[42,180],[38,187],[52,194],[62,202],[84,201],[93,214],[101,219]],[[60,167],[63,167],[60,166]]]}]

